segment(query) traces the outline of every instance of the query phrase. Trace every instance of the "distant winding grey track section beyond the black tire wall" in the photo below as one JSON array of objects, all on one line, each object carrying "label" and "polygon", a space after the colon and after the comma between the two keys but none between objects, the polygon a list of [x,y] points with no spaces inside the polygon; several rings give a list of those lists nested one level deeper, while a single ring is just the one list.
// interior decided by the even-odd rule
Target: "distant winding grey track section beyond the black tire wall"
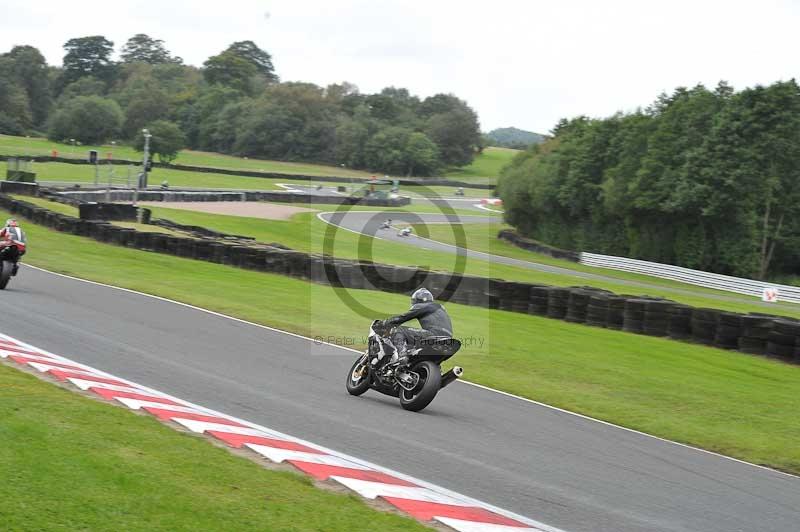
[{"label": "distant winding grey track section beyond the black tire wall", "polygon": [[[459,200],[448,199],[445,201],[450,202],[450,205],[454,207],[458,208],[464,207],[463,205],[460,204],[456,205],[455,203],[453,203],[454,201],[460,202],[461,201],[460,199]],[[549,264],[540,264],[538,262],[530,262],[526,260],[514,259],[511,257],[504,257],[502,255],[492,255],[491,253],[483,253],[480,251],[473,251],[460,247],[457,248],[455,246],[451,246],[450,244],[445,244],[443,242],[437,242],[435,240],[429,240],[426,238],[420,238],[416,235],[409,237],[401,237],[397,235],[398,232],[397,230],[387,230],[378,228],[381,222],[383,222],[386,218],[390,216],[394,223],[405,222],[409,224],[444,224],[444,223],[475,224],[475,223],[492,223],[501,221],[500,218],[496,218],[494,216],[479,216],[479,215],[473,216],[464,214],[426,214],[426,213],[412,213],[412,212],[392,212],[387,214],[387,213],[382,213],[380,211],[369,212],[369,211],[354,211],[347,209],[341,209],[339,211],[331,210],[331,212],[324,212],[319,215],[319,217],[322,220],[328,223],[331,223],[333,225],[336,225],[338,227],[356,233],[363,233],[369,236],[381,238],[383,240],[389,240],[393,242],[416,246],[419,248],[428,249],[432,251],[440,251],[443,253],[452,253],[452,254],[461,253],[466,255],[467,258],[483,260],[495,264],[517,266],[520,268],[538,270],[558,275],[569,275],[575,277],[575,284],[580,284],[582,279],[590,279],[590,280],[605,281],[609,283],[616,283],[619,285],[636,287],[645,291],[647,289],[655,289],[662,292],[671,292],[675,294],[685,294],[691,296],[697,295],[697,291],[692,290],[691,288],[674,288],[670,286],[655,285],[646,282],[620,279],[617,277],[608,277],[596,273],[571,270],[568,268],[551,266]],[[756,298],[737,296],[733,294],[727,296],[723,294],[704,293],[703,297],[706,297],[708,299],[716,299],[719,301],[736,301],[739,303],[749,303],[752,305],[763,306],[765,308],[770,308],[771,306],[774,306],[774,303],[765,303],[759,301]]]}]

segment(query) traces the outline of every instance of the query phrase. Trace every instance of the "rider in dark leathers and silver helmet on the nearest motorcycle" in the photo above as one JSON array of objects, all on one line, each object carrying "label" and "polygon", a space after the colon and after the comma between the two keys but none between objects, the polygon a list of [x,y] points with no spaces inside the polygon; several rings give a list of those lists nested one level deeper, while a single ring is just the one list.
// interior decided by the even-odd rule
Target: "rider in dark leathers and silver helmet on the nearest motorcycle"
[{"label": "rider in dark leathers and silver helmet on the nearest motorcycle", "polygon": [[[419,320],[422,329],[411,327],[397,327],[392,335],[392,343],[397,352],[391,360],[402,356],[409,348],[420,346],[426,338],[446,336],[452,338],[453,323],[447,310],[433,300],[433,294],[427,288],[419,288],[411,294],[411,308],[405,314],[394,316],[383,321],[386,327],[401,325],[413,319]],[[398,355],[399,354],[399,355]]]}]

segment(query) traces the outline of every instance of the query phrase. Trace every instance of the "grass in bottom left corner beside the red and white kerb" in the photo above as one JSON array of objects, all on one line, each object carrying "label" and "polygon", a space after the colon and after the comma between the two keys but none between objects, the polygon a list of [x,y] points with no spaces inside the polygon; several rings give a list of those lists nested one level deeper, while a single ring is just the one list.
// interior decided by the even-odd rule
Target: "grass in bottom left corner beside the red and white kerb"
[{"label": "grass in bottom left corner beside the red and white kerb", "polygon": [[0,419],[3,530],[429,530],[1,363]]}]

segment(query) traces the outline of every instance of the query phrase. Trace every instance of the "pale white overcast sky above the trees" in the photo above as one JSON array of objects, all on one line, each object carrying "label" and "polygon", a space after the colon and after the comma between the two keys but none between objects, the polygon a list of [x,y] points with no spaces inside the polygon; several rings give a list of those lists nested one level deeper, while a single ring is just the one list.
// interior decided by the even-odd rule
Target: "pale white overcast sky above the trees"
[{"label": "pale white overcast sky above the trees", "polygon": [[147,33],[197,66],[252,40],[285,81],[452,92],[486,131],[541,133],[681,85],[795,77],[799,28],[798,0],[0,0],[0,51],[31,44],[51,64],[86,35],[119,49]]}]

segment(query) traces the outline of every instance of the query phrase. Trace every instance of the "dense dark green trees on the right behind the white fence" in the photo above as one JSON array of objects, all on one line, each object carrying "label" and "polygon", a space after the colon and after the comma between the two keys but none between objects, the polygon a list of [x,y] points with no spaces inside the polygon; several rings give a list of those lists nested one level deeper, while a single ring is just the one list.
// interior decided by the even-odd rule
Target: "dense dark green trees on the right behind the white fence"
[{"label": "dense dark green trees on the right behind the white fence", "polygon": [[562,120],[498,191],[521,233],[568,249],[765,278],[798,272],[800,88],[721,82]]}]

